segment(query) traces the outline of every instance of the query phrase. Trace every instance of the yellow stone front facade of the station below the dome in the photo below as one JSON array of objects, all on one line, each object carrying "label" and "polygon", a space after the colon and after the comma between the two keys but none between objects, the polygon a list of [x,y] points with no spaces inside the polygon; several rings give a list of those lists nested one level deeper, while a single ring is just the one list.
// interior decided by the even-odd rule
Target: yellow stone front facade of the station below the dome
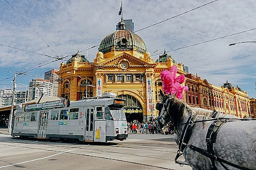
[{"label": "yellow stone front facade of the station below the dome", "polygon": [[[152,111],[147,107],[150,104],[155,105],[160,100],[158,92],[162,89],[162,85],[158,86],[156,82],[161,82],[160,73],[163,70],[169,69],[174,63],[171,60],[167,63],[154,63],[150,53],[137,56],[133,56],[133,54],[134,52],[129,51],[110,52],[106,55],[98,52],[93,63],[78,62],[76,58],[67,65],[61,63],[60,71],[57,73],[60,79],[58,96],[69,97],[69,99],[75,101],[81,100],[79,95],[86,88],[81,87],[84,80],[91,82],[92,86],[94,86],[87,87],[87,91],[92,93],[88,97],[98,96],[97,80],[101,79],[101,94],[114,92],[117,96],[132,96],[142,106],[144,121],[148,120],[151,116],[156,117],[158,113],[156,113],[154,107]],[[123,62],[127,64],[127,67],[122,67]],[[179,69],[178,74],[185,74],[185,71],[181,71],[183,70],[182,65],[177,65],[177,67]],[[108,75],[113,75],[113,79],[109,80]],[[118,75],[122,75],[121,79],[118,79]],[[127,76],[131,76],[131,78],[127,80]],[[148,79],[151,80],[151,103],[147,99]]]}]

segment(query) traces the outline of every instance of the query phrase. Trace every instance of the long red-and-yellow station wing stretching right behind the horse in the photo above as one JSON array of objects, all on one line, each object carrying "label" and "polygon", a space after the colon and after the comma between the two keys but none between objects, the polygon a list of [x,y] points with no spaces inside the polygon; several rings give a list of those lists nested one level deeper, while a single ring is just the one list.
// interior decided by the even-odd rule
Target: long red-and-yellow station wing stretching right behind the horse
[{"label": "long red-and-yellow station wing stretching right behind the horse", "polygon": [[251,117],[250,100],[245,91],[239,87],[215,86],[194,74],[185,75],[185,85],[189,90],[185,92],[185,101],[192,107],[216,110],[237,117]]}]

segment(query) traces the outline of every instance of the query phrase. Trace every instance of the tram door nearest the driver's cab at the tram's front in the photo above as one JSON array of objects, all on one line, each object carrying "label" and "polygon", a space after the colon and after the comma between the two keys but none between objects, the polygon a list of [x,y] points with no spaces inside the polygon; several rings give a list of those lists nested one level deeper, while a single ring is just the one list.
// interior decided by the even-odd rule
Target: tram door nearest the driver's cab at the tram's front
[{"label": "tram door nearest the driver's cab at the tram's front", "polygon": [[94,107],[86,108],[85,109],[85,135],[84,140],[85,141],[93,141],[93,135],[94,135]]}]

